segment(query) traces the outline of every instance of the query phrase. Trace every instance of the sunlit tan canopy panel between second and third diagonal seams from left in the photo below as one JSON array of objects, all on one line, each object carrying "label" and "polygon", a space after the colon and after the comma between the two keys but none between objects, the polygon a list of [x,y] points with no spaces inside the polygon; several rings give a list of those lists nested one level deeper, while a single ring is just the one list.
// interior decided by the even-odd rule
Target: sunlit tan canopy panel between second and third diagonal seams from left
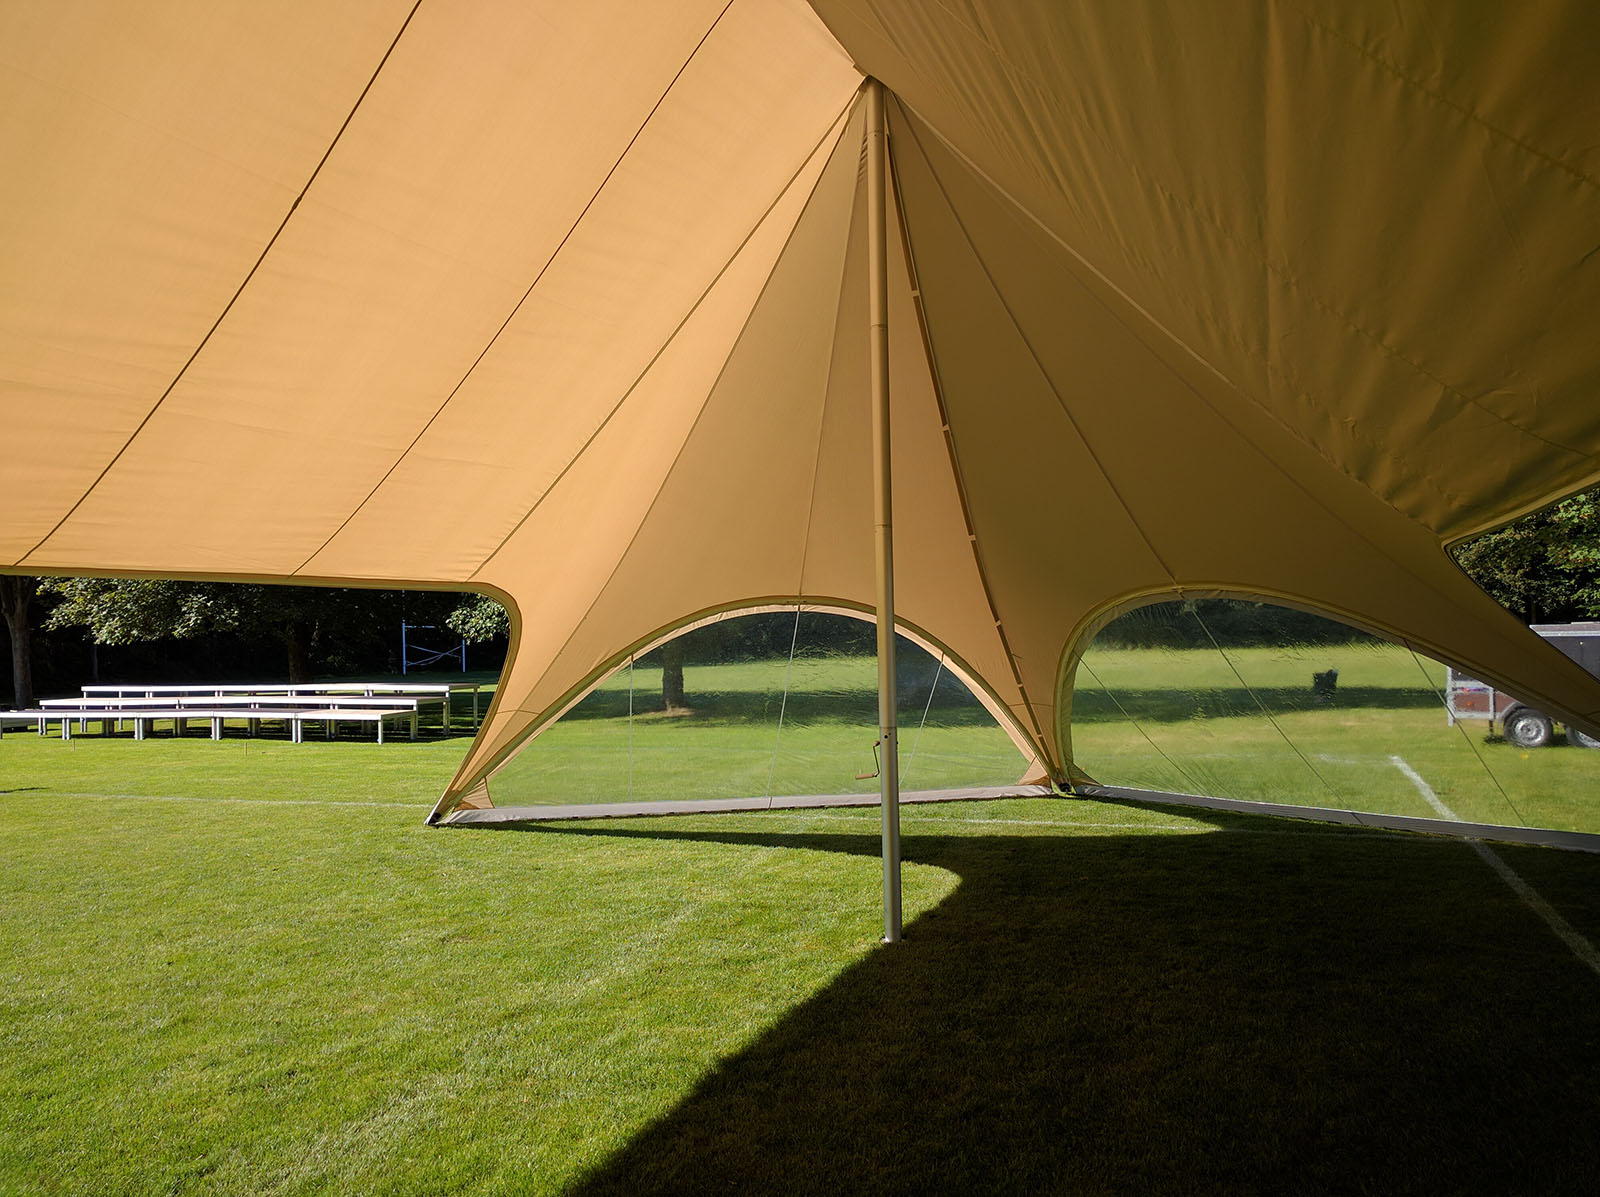
[{"label": "sunlit tan canopy panel between second and third diagonal seams from left", "polygon": [[[414,552],[472,576],[832,144],[858,83],[803,5],[731,6],[470,376],[307,568],[349,568],[398,517]],[[437,501],[464,470],[470,530]]]}]

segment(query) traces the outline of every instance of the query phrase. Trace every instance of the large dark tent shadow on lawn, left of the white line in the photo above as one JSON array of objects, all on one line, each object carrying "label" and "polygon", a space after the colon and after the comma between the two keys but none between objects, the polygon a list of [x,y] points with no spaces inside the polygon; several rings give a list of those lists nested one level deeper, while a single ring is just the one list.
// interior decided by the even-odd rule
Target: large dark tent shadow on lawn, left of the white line
[{"label": "large dark tent shadow on lawn, left of the white line", "polygon": [[576,1191],[1587,1184],[1597,978],[1467,847],[1208,821],[907,837],[955,893]]}]

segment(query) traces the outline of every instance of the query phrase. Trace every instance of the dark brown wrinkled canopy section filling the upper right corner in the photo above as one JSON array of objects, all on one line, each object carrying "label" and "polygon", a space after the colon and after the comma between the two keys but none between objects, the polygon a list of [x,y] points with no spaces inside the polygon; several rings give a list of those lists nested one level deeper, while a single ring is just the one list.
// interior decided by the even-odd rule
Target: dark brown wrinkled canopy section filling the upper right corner
[{"label": "dark brown wrinkled canopy section filling the upper right corner", "polygon": [[[1574,165],[1600,101],[1541,78],[1592,72],[1592,6],[818,8],[1160,328],[1440,534],[1600,475]],[[1397,462],[1395,426],[1429,451]]]}]

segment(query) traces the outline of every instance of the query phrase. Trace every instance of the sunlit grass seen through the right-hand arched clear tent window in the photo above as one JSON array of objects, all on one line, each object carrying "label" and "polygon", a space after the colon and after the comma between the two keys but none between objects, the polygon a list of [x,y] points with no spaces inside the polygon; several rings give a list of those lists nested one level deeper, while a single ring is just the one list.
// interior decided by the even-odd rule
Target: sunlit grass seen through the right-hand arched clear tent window
[{"label": "sunlit grass seen through the right-hand arched clear tent window", "polygon": [[[1085,666],[1074,749],[1110,784],[1437,818],[1403,762],[1462,819],[1600,831],[1600,752],[1450,727],[1443,667],[1403,648],[1101,650]],[[1330,667],[1320,706],[1310,675]]]}]

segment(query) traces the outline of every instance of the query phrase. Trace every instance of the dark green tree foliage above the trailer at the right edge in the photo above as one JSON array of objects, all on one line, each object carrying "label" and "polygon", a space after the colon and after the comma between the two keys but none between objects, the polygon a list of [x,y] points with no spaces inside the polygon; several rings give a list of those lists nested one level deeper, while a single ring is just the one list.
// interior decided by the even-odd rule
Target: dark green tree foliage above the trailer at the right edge
[{"label": "dark green tree foliage above the trailer at the right edge", "polygon": [[1523,623],[1600,618],[1600,490],[1454,547],[1456,563]]}]

